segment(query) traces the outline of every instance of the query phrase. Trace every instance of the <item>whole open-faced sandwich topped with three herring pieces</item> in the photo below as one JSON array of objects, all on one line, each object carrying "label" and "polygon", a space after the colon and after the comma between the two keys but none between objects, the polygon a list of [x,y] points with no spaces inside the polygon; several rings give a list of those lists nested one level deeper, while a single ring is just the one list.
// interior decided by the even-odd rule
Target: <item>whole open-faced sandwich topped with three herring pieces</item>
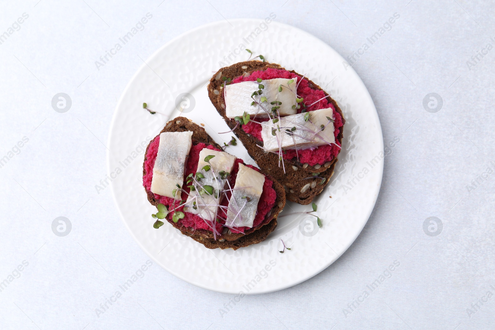
[{"label": "whole open-faced sandwich topped with three herring pieces", "polygon": [[148,144],[143,186],[166,219],[207,248],[259,243],[277,226],[284,188],[270,175],[222,150],[185,117],[170,120]]}]

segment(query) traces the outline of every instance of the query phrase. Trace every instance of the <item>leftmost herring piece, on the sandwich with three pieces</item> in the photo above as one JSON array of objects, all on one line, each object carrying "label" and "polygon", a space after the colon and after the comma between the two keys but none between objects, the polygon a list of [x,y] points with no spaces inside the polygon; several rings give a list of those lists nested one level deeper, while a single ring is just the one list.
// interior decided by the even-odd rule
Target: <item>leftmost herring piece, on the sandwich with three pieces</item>
[{"label": "leftmost herring piece, on the sandwich with three pieces", "polygon": [[[153,167],[151,192],[158,195],[175,198],[173,189],[176,184],[182,188],[184,168],[187,156],[191,151],[193,132],[163,132]],[[180,199],[180,196],[178,197]]]}]

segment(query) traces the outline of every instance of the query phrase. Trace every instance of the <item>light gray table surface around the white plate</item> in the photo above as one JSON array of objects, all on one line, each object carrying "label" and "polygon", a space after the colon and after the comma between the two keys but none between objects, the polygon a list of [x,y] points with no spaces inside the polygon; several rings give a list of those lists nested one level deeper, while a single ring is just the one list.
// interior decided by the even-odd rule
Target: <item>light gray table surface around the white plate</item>
[{"label": "light gray table surface around the white plate", "polygon": [[[0,329],[495,327],[492,1],[1,2]],[[148,12],[144,30],[97,68]],[[400,140],[368,223],[334,264],[285,290],[228,307],[234,296],[152,264],[102,309],[148,260],[110,189],[95,190],[126,84],[141,58],[192,28],[272,12],[344,57],[362,54],[352,67],[384,141]],[[52,108],[58,93],[72,100],[65,113]],[[64,237],[52,231],[60,216],[72,225]]]}]

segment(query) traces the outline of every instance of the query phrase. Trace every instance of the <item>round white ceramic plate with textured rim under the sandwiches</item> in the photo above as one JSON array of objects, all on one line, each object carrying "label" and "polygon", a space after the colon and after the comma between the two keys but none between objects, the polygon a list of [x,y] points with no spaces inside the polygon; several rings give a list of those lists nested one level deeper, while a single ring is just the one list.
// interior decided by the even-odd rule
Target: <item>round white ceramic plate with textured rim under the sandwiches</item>
[{"label": "round white ceramic plate with textured rim under the sandwiches", "polygon": [[[382,181],[382,131],[366,87],[352,68],[344,68],[344,59],[334,49],[306,32],[274,21],[266,24],[257,19],[237,19],[230,23],[198,27],[146,60],[115,109],[108,137],[107,169],[114,178],[112,191],[124,223],[141,248],[165,270],[214,291],[271,292],[318,274],[359,235]],[[314,200],[317,215],[323,220],[322,228],[313,226],[311,232],[312,226],[306,220],[313,217],[290,215],[310,211],[310,205],[288,202],[281,215],[289,215],[279,217],[278,227],[265,241],[237,251],[210,250],[167,223],[153,229],[151,213],[156,209],[148,203],[142,186],[144,148],[169,119],[178,115],[204,124],[218,143],[228,142],[232,134],[218,134],[229,128],[211,104],[206,84],[220,67],[247,60],[245,48],[305,74],[331,94],[346,119],[345,140],[330,184]],[[175,109],[181,93],[192,94],[195,103],[194,108],[191,103],[185,111],[189,112],[182,114]],[[149,114],[142,108],[143,102],[161,114]],[[241,143],[226,151],[254,164]],[[307,235],[306,231],[312,236],[303,235]],[[281,239],[291,250],[279,252]]]}]

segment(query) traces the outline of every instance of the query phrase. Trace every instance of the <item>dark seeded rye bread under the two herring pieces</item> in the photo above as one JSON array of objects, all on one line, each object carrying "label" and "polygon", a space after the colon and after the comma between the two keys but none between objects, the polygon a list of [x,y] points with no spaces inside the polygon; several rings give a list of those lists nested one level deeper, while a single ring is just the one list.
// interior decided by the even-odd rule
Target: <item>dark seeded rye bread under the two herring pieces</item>
[{"label": "dark seeded rye bread under the two herring pieces", "polygon": [[[224,118],[225,122],[231,129],[234,129],[237,123],[234,119],[230,119],[225,116],[225,100],[224,95],[221,92],[222,88],[220,86],[223,83],[222,77],[234,79],[241,75],[248,76],[253,71],[266,70],[267,68],[283,69],[278,64],[261,61],[247,61],[224,67],[215,73],[210,79],[210,83],[207,87],[208,96],[218,113]],[[291,72],[298,74],[295,71]],[[313,88],[320,89],[312,81],[309,81],[309,83],[313,85]],[[326,92],[324,93],[328,95]],[[339,112],[342,116],[343,122],[345,122],[344,116],[342,115],[342,111],[337,102],[330,96],[328,96],[327,99],[335,106],[336,111]],[[260,169],[265,173],[271,174],[284,186],[284,189],[286,190],[286,197],[290,201],[302,205],[310,204],[313,198],[325,188],[330,177],[334,173],[337,157],[334,157],[334,159],[325,163],[318,169],[301,164],[297,161],[286,161],[286,171],[284,173],[283,168],[278,166],[278,156],[273,153],[264,152],[264,150],[259,147],[263,146],[262,141],[259,141],[258,139],[247,134],[241,127],[234,129],[234,134],[239,138],[239,140],[241,140],[241,142],[243,142],[247,152],[256,161]],[[337,140],[341,144],[342,138],[343,133],[341,128],[340,133],[337,136]],[[319,178],[314,178],[315,176],[312,173],[318,173],[317,177]],[[322,179],[320,178],[325,179],[323,185],[321,185]]]}]

